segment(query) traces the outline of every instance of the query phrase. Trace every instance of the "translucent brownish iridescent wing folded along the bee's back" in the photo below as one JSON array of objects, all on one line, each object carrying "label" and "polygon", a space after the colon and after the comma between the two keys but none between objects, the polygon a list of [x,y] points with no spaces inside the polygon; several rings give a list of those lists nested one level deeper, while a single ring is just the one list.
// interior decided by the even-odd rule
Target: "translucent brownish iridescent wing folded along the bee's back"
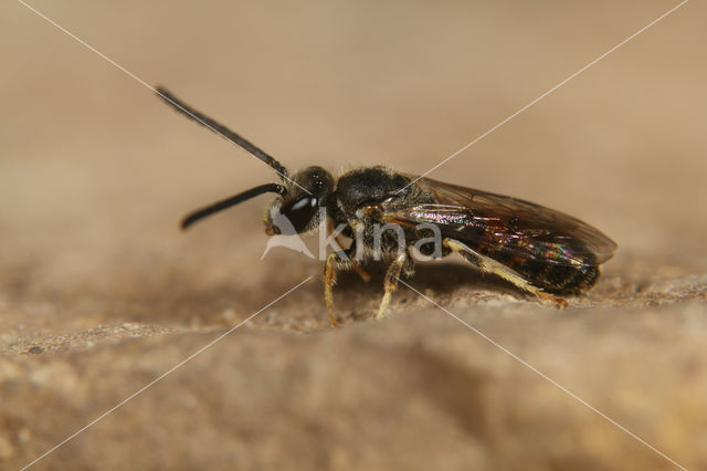
[{"label": "translucent brownish iridescent wing folded along the bee's back", "polygon": [[598,229],[534,202],[429,178],[416,185],[436,202],[387,209],[388,222],[435,224],[444,237],[503,261],[595,266],[616,249]]}]

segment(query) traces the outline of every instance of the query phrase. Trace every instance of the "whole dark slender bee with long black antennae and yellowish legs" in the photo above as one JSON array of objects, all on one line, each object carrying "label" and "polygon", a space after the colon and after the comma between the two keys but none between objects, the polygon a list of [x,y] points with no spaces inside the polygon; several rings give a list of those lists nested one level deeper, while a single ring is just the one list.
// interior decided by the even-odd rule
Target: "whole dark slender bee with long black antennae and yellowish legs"
[{"label": "whole dark slender bee with long black antennae and yellowish legs", "polygon": [[[518,198],[401,174],[383,166],[355,169],[338,178],[315,166],[291,177],[274,157],[239,134],[188,106],[165,88],[157,92],[177,111],[267,164],[282,180],[201,208],[183,219],[183,229],[214,212],[272,192],[277,197],[265,213],[266,233],[282,233],[276,223],[281,218],[291,222],[293,233],[312,232],[326,218],[344,228],[342,236],[352,239],[349,248],[329,253],[325,261],[325,301],[331,325],[338,324],[333,295],[337,270],[355,270],[367,279],[363,264],[378,260],[389,264],[383,297],[376,314],[376,318],[381,318],[388,311],[399,278],[410,278],[414,273],[412,247],[433,258],[458,253],[482,273],[499,276],[539,299],[557,303],[558,307],[567,302],[556,295],[591,290],[599,280],[599,265],[616,249],[616,244],[598,229],[562,212]],[[374,244],[374,229],[381,224],[402,228],[404,247],[390,233],[383,233]],[[429,240],[429,229],[421,229],[421,224],[436,228],[441,250],[435,250],[432,243],[414,245]]]}]

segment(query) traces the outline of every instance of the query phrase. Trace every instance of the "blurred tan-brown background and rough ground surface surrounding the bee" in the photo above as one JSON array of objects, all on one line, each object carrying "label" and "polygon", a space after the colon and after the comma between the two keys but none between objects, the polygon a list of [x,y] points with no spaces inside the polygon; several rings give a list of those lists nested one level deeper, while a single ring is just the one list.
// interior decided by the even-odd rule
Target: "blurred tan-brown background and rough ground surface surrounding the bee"
[{"label": "blurred tan-brown background and rough ground surface surrounding the bee", "polygon": [[[31,3],[291,170],[423,172],[677,4]],[[433,177],[574,214],[619,251],[557,312],[455,263],[411,283],[680,464],[707,467],[707,8],[689,2]],[[675,469],[401,289],[265,247],[273,172],[19,2],[0,6],[0,468],[244,320],[38,469]],[[303,333],[308,333],[303,335]]]}]

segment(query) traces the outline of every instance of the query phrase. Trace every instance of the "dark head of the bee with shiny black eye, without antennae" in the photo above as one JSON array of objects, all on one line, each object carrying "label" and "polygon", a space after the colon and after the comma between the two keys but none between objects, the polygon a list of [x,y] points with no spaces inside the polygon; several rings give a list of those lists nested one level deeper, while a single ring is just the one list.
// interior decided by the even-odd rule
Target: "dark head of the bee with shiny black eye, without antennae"
[{"label": "dark head of the bee with shiny black eye, without antennae", "polygon": [[285,184],[285,191],[267,207],[265,232],[292,236],[316,229],[334,191],[331,175],[321,167],[307,167]]}]

